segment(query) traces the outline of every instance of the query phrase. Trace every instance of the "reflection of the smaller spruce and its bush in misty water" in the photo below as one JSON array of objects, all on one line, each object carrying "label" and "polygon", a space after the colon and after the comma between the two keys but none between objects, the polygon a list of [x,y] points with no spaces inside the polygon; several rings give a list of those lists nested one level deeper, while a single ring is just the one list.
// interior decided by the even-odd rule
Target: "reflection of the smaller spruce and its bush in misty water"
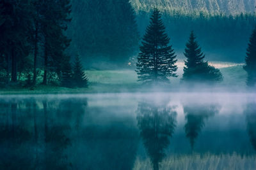
[{"label": "reflection of the smaller spruce and its bush in misty water", "polygon": [[205,125],[205,120],[213,117],[220,110],[218,105],[184,105],[184,113],[186,118],[185,132],[189,138],[191,148],[194,148],[195,140]]}]

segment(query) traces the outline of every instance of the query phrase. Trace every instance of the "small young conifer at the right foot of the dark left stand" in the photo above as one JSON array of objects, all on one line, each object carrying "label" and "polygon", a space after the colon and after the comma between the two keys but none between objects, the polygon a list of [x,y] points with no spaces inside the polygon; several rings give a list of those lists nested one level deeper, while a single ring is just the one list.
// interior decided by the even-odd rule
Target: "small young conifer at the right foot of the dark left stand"
[{"label": "small young conifer at the right foot of the dark left stand", "polygon": [[74,62],[74,71],[73,71],[73,81],[77,87],[88,87],[88,78],[83,71],[83,66],[81,64],[81,59],[79,55],[76,56]]}]

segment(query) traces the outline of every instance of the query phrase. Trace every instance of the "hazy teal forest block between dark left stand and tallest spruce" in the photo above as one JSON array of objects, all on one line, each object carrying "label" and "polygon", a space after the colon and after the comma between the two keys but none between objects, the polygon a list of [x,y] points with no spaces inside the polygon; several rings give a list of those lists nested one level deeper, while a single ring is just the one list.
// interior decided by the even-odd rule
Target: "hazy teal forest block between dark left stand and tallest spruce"
[{"label": "hazy teal forest block between dark left stand and tallest spruce", "polygon": [[98,60],[126,66],[138,52],[136,15],[129,0],[73,1],[72,17],[70,49],[83,54],[87,66],[99,68]]}]

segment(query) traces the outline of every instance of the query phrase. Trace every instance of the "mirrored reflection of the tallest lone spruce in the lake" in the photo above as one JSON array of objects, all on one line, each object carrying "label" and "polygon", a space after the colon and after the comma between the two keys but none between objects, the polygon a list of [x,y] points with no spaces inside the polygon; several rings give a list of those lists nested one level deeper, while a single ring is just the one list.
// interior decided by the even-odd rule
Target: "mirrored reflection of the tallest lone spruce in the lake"
[{"label": "mirrored reflection of the tallest lone spruce in the lake", "polygon": [[176,115],[172,108],[166,106],[138,104],[138,127],[154,170],[159,169],[159,163],[165,157],[164,150],[170,145],[176,126]]}]

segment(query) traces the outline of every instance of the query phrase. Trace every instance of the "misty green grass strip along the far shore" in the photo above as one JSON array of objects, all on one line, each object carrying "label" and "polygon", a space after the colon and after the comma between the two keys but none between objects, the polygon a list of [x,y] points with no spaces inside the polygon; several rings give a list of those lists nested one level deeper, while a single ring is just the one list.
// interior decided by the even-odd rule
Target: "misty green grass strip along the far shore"
[{"label": "misty green grass strip along the far shore", "polygon": [[[246,72],[243,66],[238,64],[218,64],[223,74],[223,81],[219,83],[223,87],[246,87]],[[178,78],[171,78],[170,88],[177,89],[182,78],[182,66],[179,66]],[[87,70],[88,88],[66,88],[52,85],[37,85],[33,88],[13,86],[0,89],[0,94],[77,94],[77,93],[115,93],[115,92],[147,92],[141,89],[141,83],[137,81],[137,74],[133,70]]]}]

